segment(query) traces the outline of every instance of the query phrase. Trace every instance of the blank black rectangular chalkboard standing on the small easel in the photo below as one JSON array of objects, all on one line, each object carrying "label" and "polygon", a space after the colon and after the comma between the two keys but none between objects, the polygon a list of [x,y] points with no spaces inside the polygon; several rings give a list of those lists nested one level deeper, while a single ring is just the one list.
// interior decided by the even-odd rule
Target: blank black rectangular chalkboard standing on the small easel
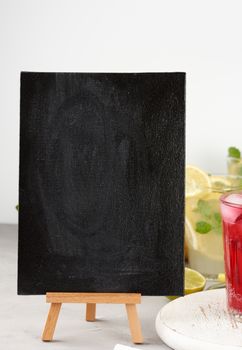
[{"label": "blank black rectangular chalkboard standing on the small easel", "polygon": [[183,293],[184,86],[21,74],[18,294]]}]

